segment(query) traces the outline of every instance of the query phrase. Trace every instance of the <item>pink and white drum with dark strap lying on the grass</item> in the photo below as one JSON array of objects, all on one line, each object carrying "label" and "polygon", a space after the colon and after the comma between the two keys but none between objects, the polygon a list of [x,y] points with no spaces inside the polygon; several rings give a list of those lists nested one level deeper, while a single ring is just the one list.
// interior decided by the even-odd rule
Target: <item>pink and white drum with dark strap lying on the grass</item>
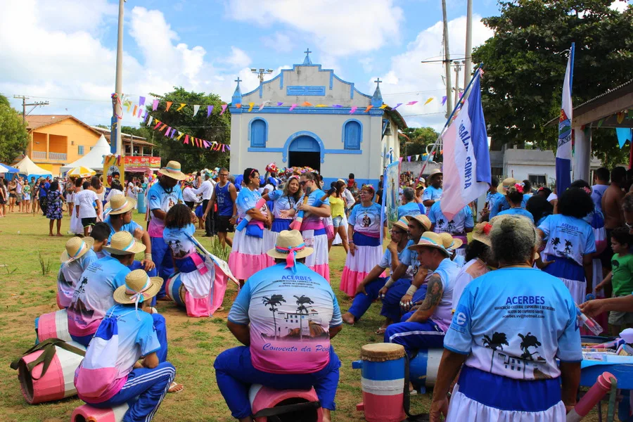
[{"label": "pink and white drum with dark strap lying on the grass", "polygon": [[[70,341],[68,344],[78,349],[86,350],[79,343]],[[44,351],[38,350],[20,359],[18,381],[20,381],[22,395],[29,404],[51,402],[77,394],[75,389],[75,370],[84,357],[61,347],[54,347],[56,349],[55,356],[53,356],[49,369],[46,370],[44,376],[41,376],[44,363],[35,366],[31,372],[27,369],[27,364],[37,359]]]}]

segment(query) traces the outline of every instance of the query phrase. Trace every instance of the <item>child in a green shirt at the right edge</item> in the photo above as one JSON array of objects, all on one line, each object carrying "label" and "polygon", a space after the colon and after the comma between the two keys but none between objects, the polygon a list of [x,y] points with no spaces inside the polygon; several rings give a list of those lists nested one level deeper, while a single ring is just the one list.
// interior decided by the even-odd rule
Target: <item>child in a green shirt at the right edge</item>
[{"label": "child in a green shirt at the right edge", "polygon": [[[596,291],[601,290],[607,284],[613,286],[613,298],[627,296],[633,293],[633,254],[629,251],[632,238],[629,229],[618,227],[611,232],[611,272],[596,286]],[[624,328],[633,326],[633,313],[615,312],[609,313],[609,331],[611,335],[619,335]]]}]

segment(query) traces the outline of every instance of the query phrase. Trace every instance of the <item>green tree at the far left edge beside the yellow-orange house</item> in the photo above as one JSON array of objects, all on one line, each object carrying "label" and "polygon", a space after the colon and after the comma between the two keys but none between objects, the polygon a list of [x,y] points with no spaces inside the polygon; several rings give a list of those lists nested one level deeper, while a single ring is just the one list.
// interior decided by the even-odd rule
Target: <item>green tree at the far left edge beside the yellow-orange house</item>
[{"label": "green tree at the far left edge beside the yellow-orange house", "polygon": [[25,151],[29,134],[22,117],[0,95],[0,162],[11,164]]}]

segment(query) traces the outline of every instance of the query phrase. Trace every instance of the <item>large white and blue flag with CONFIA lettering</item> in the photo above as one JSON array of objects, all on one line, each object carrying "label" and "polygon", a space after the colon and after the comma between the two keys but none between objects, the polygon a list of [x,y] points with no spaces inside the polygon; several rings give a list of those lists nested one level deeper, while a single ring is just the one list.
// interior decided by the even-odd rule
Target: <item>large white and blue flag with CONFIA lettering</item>
[{"label": "large white and blue flag with CONFIA lettering", "polygon": [[490,153],[481,107],[480,78],[481,72],[477,70],[468,99],[442,135],[444,188],[440,207],[449,219],[490,188]]}]

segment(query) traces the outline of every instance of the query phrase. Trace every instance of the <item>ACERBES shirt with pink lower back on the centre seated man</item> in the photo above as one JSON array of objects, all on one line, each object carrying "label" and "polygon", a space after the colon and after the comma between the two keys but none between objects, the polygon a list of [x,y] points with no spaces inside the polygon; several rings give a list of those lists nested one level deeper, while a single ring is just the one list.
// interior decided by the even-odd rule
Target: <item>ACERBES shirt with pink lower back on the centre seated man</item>
[{"label": "ACERBES shirt with pink lower back on the centre seated man", "polygon": [[229,321],[250,323],[252,366],[269,373],[313,373],[329,362],[331,327],[340,326],[330,283],[297,263],[253,274],[240,290]]}]

